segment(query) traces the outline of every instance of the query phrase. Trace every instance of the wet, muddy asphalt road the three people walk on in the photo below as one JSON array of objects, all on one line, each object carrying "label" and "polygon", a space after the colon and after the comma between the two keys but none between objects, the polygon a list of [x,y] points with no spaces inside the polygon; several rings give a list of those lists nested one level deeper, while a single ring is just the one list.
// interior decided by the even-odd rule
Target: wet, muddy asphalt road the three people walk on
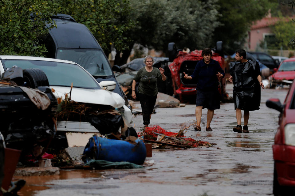
[{"label": "wet, muddy asphalt road the three people walk on", "polygon": [[[232,92],[232,85],[227,85],[227,92]],[[81,171],[84,174],[81,178],[57,177],[46,182],[45,190],[38,189],[34,195],[273,195],[272,145],[279,112],[267,108],[265,101],[277,97],[283,102],[287,90],[264,89],[261,92],[260,110],[250,111],[249,134],[233,132],[236,125],[234,104],[222,104],[221,109],[214,111],[213,132],[205,131],[205,109],[202,131],[197,132],[191,126],[185,133],[187,137],[216,145],[186,150],[153,149],[152,157],[147,157],[147,160],[155,161],[153,166]],[[141,115],[133,119],[138,132],[142,122]],[[151,125],[159,125],[172,132],[178,132],[183,123],[189,125],[193,122],[195,105],[158,108],[151,117]]]}]

